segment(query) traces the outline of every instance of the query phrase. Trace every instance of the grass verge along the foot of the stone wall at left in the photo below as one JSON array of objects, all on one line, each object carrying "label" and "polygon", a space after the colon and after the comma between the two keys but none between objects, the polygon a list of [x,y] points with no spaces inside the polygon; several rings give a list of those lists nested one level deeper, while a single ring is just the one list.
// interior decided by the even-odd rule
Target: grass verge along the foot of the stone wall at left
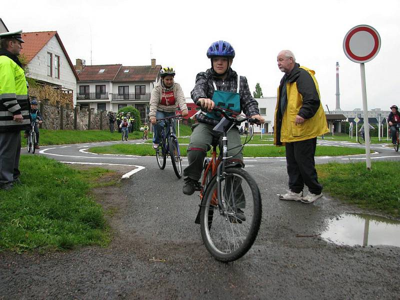
[{"label": "grass verge along the foot of the stone wall at left", "polygon": [[[129,133],[129,139],[140,139],[142,131]],[[149,134],[149,138],[150,138]],[[61,145],[70,143],[95,142],[107,140],[120,140],[121,133],[117,130],[111,133],[109,130],[47,130],[40,129],[40,145]],[[21,145],[26,146],[26,138],[21,131]]]}]

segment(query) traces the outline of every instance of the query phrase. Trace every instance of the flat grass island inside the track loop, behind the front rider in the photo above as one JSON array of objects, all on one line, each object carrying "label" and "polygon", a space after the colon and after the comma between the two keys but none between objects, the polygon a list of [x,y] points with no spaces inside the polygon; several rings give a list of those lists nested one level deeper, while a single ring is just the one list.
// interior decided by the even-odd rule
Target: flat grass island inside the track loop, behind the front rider
[{"label": "flat grass island inside the track loop, behind the front rider", "polygon": [[[180,153],[186,156],[187,146],[180,145]],[[239,148],[237,148],[237,151]],[[116,144],[110,146],[92,147],[89,149],[94,153],[109,153],[109,154],[130,154],[151,156],[155,155],[155,151],[150,144]],[[335,147],[335,146],[316,146],[316,156],[331,156],[331,155],[349,155],[349,154],[362,154],[365,150],[362,148],[350,147]],[[209,154],[209,153],[208,153]],[[258,156],[285,156],[284,147],[276,146],[245,146],[243,155],[247,157]]]}]

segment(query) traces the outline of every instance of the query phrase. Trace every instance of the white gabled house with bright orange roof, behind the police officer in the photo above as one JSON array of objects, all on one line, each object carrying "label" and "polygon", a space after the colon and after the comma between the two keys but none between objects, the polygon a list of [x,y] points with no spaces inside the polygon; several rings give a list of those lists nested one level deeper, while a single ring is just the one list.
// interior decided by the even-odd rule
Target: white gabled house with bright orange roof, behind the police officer
[{"label": "white gabled house with bright orange roof, behind the police officer", "polygon": [[39,84],[71,93],[76,103],[78,75],[57,31],[23,32],[21,54],[27,59],[27,76]]}]

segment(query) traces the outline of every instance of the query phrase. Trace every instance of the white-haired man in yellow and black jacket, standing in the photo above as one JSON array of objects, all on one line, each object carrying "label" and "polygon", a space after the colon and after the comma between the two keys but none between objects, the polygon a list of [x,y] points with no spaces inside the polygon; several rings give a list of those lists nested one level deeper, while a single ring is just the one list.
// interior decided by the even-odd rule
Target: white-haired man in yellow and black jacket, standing
[{"label": "white-haired man in yellow and black jacket, standing", "polygon": [[318,83],[315,72],[296,63],[290,50],[280,51],[277,63],[285,74],[277,91],[274,144],[286,147],[289,175],[289,190],[279,199],[311,203],[322,196],[314,161],[316,137],[328,132]]}]

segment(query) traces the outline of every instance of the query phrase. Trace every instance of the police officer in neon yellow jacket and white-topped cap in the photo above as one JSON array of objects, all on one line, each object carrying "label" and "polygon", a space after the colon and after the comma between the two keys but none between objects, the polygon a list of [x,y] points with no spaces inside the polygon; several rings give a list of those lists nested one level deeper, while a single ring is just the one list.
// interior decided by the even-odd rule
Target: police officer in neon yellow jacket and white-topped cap
[{"label": "police officer in neon yellow jacket and white-topped cap", "polygon": [[0,188],[19,183],[20,131],[30,126],[25,72],[18,55],[22,30],[0,33]]}]

